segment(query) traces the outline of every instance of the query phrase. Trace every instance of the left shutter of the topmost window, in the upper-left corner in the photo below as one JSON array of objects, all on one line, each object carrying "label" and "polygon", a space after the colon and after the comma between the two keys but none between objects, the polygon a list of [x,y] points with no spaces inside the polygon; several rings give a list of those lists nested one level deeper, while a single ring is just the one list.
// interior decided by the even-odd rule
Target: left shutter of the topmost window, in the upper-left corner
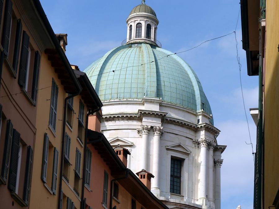
[{"label": "left shutter of the topmost window, in the upper-left corner", "polygon": [[4,27],[2,36],[2,47],[4,57],[8,56],[9,43],[10,43],[10,32],[11,32],[11,21],[12,21],[12,7],[13,4],[11,0],[6,1],[5,14],[4,14]]}]

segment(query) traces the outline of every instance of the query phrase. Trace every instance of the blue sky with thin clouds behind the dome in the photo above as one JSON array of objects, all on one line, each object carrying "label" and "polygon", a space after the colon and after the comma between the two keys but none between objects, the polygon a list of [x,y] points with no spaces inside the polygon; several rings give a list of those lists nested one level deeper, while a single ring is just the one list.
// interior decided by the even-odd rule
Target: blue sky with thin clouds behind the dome
[{"label": "blue sky with thin clouds behind the dome", "polygon": [[[85,1],[41,0],[55,33],[68,34],[66,54],[81,70],[126,39],[126,18],[140,0]],[[172,52],[235,30],[240,8],[236,0],[147,0],[160,23],[157,39]],[[249,108],[258,107],[258,76],[247,76],[246,55],[241,45],[241,20],[237,40],[242,65],[242,85],[250,133],[255,151],[256,126]],[[197,73],[210,102],[217,141],[227,145],[221,168],[222,208],[253,208],[254,164],[242,103],[234,34],[207,42],[179,54]]]}]

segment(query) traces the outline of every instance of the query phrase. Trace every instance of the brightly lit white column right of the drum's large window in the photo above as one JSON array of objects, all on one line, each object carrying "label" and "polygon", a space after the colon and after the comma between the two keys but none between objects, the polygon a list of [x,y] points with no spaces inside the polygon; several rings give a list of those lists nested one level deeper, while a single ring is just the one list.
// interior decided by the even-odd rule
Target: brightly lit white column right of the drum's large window
[{"label": "brightly lit white column right of the drum's large window", "polygon": [[207,204],[207,172],[208,172],[208,153],[207,153],[207,145],[208,140],[206,138],[200,139],[199,143],[201,145],[200,151],[200,159],[201,159],[201,166],[200,166],[200,181],[198,184],[198,198],[199,203],[202,205]]}]

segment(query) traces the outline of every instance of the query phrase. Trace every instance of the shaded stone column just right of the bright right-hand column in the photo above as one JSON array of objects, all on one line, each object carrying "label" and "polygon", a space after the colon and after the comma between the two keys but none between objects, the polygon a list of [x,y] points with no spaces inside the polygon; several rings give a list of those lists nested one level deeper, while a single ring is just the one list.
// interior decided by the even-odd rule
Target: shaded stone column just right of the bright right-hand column
[{"label": "shaded stone column just right of the bright right-hand column", "polygon": [[213,149],[215,147],[215,143],[210,142],[208,146],[208,194],[207,198],[209,201],[209,205],[214,207],[214,199],[213,199]]}]

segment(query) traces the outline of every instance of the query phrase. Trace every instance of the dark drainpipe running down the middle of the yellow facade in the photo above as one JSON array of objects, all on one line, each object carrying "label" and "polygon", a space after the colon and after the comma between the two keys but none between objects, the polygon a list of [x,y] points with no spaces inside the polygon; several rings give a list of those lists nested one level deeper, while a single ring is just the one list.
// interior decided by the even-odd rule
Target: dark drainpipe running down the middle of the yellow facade
[{"label": "dark drainpipe running down the middle of the yellow facade", "polygon": [[78,92],[72,94],[65,98],[64,100],[64,112],[63,112],[63,128],[62,128],[62,147],[61,147],[61,158],[60,158],[60,173],[59,173],[59,191],[58,191],[58,209],[61,208],[61,191],[62,191],[62,175],[63,175],[63,163],[64,163],[64,146],[65,146],[65,129],[66,129],[66,116],[67,116],[67,103],[68,99],[73,98],[79,95],[81,89],[78,89]]}]

